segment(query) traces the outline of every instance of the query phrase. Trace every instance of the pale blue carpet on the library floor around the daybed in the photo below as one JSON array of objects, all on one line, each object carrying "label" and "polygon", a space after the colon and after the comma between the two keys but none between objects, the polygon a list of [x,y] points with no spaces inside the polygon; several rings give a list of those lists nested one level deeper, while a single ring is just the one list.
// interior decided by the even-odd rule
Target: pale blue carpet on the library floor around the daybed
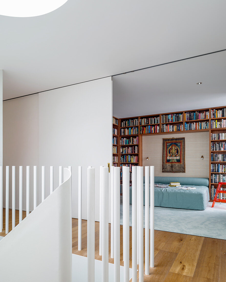
[{"label": "pale blue carpet on the library floor around the daybed", "polygon": [[[203,211],[155,207],[155,230],[226,240],[226,204],[215,203],[214,208],[211,206],[212,202],[209,202]],[[122,196],[120,224],[122,224]],[[129,224],[132,226],[132,205],[130,205]]]}]

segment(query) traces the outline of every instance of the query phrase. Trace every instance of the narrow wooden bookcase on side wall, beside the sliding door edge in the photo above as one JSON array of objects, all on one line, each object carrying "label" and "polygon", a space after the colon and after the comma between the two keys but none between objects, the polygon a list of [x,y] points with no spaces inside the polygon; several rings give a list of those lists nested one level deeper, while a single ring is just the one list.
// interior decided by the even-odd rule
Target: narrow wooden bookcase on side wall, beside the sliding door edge
[{"label": "narrow wooden bookcase on side wall, beside the sliding door edge", "polygon": [[[112,165],[119,166],[119,124],[118,118],[112,117]],[[115,144],[116,143],[116,144]]]}]

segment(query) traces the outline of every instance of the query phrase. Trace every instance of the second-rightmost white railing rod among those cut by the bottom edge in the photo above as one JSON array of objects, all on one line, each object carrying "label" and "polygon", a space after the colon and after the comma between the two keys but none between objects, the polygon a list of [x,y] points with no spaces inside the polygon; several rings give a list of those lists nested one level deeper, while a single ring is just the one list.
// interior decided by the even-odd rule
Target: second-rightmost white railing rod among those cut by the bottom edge
[{"label": "second-rightmost white railing rod among those cut by the bottom edge", "polygon": [[132,281],[137,280],[137,167],[132,167]]}]

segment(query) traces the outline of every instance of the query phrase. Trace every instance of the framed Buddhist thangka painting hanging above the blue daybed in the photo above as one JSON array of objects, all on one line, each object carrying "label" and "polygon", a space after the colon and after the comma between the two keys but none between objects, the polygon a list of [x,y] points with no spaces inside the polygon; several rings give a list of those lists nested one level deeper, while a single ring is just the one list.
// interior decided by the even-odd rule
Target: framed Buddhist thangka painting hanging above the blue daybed
[{"label": "framed Buddhist thangka painting hanging above the blue daybed", "polygon": [[162,172],[185,172],[185,138],[162,139]]}]

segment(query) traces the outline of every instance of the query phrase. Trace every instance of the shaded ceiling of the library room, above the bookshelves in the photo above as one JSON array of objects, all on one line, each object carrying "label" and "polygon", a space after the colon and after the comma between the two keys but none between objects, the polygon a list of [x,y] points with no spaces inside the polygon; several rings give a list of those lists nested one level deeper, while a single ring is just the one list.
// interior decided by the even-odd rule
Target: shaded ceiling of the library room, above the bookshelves
[{"label": "shaded ceiling of the library room, above the bookshelves", "polygon": [[113,77],[118,118],[225,105],[226,51]]}]

